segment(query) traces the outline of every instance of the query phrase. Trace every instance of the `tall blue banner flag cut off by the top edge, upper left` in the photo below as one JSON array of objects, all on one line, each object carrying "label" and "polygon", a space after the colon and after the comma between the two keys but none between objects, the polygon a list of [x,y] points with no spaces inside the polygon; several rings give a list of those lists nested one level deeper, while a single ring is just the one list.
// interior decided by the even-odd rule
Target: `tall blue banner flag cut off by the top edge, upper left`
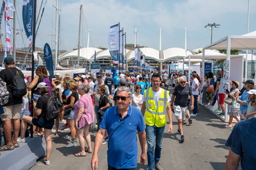
[{"label": "tall blue banner flag cut off by the top edge, upper left", "polygon": [[23,0],[23,26],[31,47],[33,44],[33,0]]}]

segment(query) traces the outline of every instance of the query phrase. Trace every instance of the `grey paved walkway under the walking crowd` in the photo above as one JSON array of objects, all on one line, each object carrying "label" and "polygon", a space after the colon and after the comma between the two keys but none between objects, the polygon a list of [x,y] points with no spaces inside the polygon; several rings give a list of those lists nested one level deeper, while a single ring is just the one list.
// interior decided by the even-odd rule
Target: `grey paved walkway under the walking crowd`
[{"label": "grey paved walkway under the walking crowd", "polygon": [[[222,120],[199,105],[199,114],[193,117],[193,124],[184,126],[185,141],[181,143],[180,135],[177,134],[177,120],[173,115],[173,133],[168,135],[166,130],[164,134],[160,159],[162,167],[164,169],[225,169],[228,154],[225,141],[231,129],[225,129],[224,126],[225,123]],[[79,143],[76,143],[77,146],[73,148],[65,148],[69,141],[64,138],[67,134],[68,132],[61,131],[59,137],[53,135],[50,166],[44,165],[43,158],[40,158],[31,169],[91,169],[91,154],[85,157],[74,156],[80,151]],[[95,137],[96,131],[92,131],[92,146],[94,146]],[[106,150],[107,144],[100,148],[98,169],[107,169]],[[147,169],[147,165],[141,166],[138,160],[137,169]]]}]

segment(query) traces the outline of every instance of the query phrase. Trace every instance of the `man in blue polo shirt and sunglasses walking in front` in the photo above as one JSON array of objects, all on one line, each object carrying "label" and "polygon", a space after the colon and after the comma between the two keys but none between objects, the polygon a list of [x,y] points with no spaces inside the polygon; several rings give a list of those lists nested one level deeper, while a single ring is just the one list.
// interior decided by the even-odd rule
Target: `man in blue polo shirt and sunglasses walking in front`
[{"label": "man in blue polo shirt and sunglasses walking in front", "polygon": [[107,151],[108,169],[136,169],[137,132],[141,144],[141,164],[145,164],[145,125],[139,109],[129,105],[132,93],[128,87],[117,90],[117,105],[106,110],[100,130],[96,135],[91,169],[98,168],[98,151],[107,131],[109,143]]}]

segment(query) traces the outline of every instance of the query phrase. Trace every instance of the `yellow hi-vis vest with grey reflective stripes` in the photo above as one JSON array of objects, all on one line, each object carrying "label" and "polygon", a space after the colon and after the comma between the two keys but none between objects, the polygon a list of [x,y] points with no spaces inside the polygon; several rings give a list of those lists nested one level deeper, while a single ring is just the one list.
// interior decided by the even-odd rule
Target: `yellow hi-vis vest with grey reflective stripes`
[{"label": "yellow hi-vis vest with grey reflective stripes", "polygon": [[157,127],[162,127],[167,124],[165,118],[165,112],[167,109],[169,91],[160,88],[161,93],[158,101],[158,108],[154,101],[152,88],[147,88],[144,93],[146,110],[145,110],[145,122],[149,126],[156,124]]}]

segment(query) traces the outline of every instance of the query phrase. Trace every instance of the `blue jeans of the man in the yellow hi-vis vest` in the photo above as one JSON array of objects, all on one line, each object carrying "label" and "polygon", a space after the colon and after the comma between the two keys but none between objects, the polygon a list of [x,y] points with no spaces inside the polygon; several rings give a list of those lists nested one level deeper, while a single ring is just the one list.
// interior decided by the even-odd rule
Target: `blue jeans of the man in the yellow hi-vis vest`
[{"label": "blue jeans of the man in the yellow hi-vis vest", "polygon": [[[157,127],[156,125],[149,126],[146,124],[146,139],[147,139],[147,168],[155,169],[155,163],[160,160],[162,151],[162,137],[164,135],[165,126]],[[156,139],[156,148],[155,140]]]}]

